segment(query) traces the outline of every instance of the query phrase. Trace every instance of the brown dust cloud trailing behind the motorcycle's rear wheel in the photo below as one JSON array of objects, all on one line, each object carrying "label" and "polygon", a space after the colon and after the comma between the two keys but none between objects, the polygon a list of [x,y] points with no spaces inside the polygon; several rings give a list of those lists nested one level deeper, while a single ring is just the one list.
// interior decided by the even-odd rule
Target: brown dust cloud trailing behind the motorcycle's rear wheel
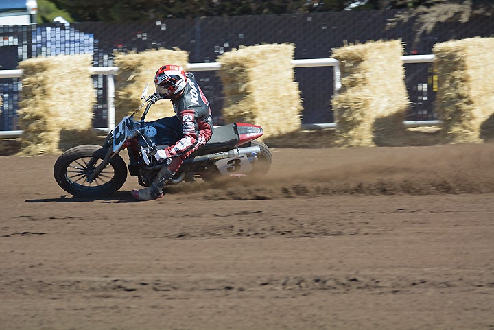
[{"label": "brown dust cloud trailing behind the motorcycle's rear wheel", "polygon": [[456,194],[494,191],[494,145],[273,149],[261,178],[171,187],[206,200],[262,200],[347,194]]}]

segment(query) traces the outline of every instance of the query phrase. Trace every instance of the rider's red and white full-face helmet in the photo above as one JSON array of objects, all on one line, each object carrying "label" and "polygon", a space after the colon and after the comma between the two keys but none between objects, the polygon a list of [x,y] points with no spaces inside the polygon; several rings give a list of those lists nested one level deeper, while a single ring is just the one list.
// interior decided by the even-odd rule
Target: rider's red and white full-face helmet
[{"label": "rider's red and white full-face helmet", "polygon": [[156,93],[163,99],[171,99],[185,88],[187,78],[180,65],[163,65],[154,75]]}]

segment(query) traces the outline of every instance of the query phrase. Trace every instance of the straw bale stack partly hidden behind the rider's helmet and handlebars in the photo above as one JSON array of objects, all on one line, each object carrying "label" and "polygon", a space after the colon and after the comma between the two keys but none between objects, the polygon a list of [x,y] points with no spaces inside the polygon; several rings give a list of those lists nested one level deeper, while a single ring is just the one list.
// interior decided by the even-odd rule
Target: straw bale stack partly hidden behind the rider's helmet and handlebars
[{"label": "straw bale stack partly hidden behind the rider's helmet and handlebars", "polygon": [[[189,62],[187,51],[180,49],[158,49],[141,53],[117,54],[115,65],[119,67],[115,84],[115,120],[120,121],[125,115],[133,113],[141,105],[141,93],[146,84],[148,95],[154,93],[154,75],[165,64],[178,64],[186,69]],[[143,109],[136,115],[141,118]],[[146,116],[146,121],[174,115],[171,102],[156,102]]]}]

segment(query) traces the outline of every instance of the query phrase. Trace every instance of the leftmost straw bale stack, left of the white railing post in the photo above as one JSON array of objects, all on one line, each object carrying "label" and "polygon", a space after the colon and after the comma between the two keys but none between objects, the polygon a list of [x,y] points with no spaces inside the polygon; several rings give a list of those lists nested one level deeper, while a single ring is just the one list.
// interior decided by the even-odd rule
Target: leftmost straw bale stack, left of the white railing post
[{"label": "leftmost straw bale stack, left of the white railing post", "polygon": [[31,58],[23,70],[19,126],[22,154],[58,153],[92,133],[96,93],[90,54]]}]

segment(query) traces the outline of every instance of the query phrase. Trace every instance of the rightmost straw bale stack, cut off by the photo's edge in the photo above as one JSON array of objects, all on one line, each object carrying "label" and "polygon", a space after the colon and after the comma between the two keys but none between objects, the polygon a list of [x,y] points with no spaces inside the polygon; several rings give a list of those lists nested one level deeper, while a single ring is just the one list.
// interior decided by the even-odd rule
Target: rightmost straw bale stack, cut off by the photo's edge
[{"label": "rightmost straw bale stack, cut off by the photo's edge", "polygon": [[493,49],[494,38],[434,45],[438,75],[436,111],[443,120],[444,142],[479,143],[492,137]]}]

